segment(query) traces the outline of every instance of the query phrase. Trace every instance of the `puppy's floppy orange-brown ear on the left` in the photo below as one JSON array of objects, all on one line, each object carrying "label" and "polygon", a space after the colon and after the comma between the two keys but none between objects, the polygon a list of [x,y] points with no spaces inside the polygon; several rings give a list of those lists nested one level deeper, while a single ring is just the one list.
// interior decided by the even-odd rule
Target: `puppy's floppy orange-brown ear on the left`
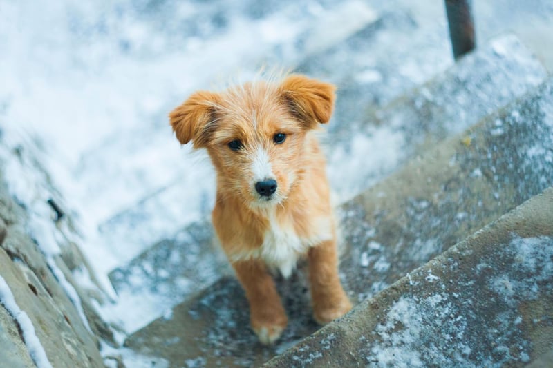
[{"label": "puppy's floppy orange-brown ear on the left", "polygon": [[194,148],[203,148],[216,120],[219,95],[198,91],[169,114],[169,122],[181,144],[192,141]]}]

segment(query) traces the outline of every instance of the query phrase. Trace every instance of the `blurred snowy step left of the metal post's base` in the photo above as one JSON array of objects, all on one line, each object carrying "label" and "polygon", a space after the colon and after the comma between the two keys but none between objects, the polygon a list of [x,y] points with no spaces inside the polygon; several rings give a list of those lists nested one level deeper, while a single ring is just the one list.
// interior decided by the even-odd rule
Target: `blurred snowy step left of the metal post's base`
[{"label": "blurred snowy step left of the metal post's base", "polygon": [[297,70],[339,86],[337,115],[364,119],[407,90],[453,65],[445,17],[417,21],[411,12],[384,12],[379,21],[298,64]]}]

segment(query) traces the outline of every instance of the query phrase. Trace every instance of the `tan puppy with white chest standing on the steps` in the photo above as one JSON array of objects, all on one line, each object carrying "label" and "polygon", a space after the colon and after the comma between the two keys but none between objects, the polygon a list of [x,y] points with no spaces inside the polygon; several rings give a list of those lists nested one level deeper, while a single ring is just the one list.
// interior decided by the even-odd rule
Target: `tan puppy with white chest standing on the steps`
[{"label": "tan puppy with white chest standing on the steps", "polygon": [[250,303],[252,329],[266,345],[288,322],[270,271],[288,277],[302,256],[315,320],[325,324],[351,309],[314,135],[330,120],[334,101],[331,84],[288,75],[199,91],[169,114],[180,143],[206,148],[216,168],[214,228]]}]

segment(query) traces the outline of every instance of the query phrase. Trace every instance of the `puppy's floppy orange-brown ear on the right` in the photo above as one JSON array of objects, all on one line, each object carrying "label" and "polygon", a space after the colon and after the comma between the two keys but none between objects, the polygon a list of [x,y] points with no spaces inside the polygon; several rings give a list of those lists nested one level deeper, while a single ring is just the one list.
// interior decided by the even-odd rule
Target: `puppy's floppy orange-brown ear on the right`
[{"label": "puppy's floppy orange-brown ear on the right", "polygon": [[335,86],[303,75],[290,75],[281,88],[285,104],[306,128],[328,123],[336,99]]}]

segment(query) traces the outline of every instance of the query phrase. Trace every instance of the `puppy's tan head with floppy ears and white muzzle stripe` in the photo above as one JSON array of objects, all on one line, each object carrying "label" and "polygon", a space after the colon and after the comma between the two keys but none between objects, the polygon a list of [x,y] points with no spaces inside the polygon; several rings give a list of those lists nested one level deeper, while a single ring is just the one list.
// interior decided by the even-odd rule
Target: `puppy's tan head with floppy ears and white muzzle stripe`
[{"label": "puppy's tan head with floppy ears and white muzzle stripe", "polygon": [[181,144],[207,149],[220,195],[265,207],[285,200],[301,180],[310,164],[308,132],[330,120],[334,100],[332,84],[290,75],[196,92],[169,118]]}]

